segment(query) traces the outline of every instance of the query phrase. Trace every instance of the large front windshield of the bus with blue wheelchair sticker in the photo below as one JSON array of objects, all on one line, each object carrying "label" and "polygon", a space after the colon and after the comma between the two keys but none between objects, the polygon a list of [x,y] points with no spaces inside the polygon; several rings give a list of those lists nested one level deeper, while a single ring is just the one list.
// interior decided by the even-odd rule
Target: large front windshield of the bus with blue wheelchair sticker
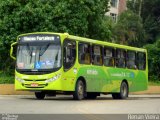
[{"label": "large front windshield of the bus with blue wheelchair sticker", "polygon": [[16,68],[19,70],[47,70],[61,67],[60,44],[22,44],[17,49]]}]

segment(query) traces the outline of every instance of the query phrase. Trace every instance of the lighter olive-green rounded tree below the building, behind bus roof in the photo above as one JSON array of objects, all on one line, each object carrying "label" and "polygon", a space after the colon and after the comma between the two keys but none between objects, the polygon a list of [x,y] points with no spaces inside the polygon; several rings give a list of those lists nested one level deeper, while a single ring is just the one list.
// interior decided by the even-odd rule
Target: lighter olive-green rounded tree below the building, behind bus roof
[{"label": "lighter olive-green rounded tree below the building, behind bus roof", "polygon": [[[115,40],[118,43],[142,47],[145,32],[141,18],[130,10],[123,12],[114,27]],[[138,42],[138,44],[137,44]]]}]

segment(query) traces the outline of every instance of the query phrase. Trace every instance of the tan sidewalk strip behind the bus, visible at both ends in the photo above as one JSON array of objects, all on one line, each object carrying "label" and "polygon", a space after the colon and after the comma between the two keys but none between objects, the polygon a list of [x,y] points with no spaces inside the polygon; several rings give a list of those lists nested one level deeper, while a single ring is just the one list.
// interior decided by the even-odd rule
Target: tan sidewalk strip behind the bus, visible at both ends
[{"label": "tan sidewalk strip behind the bus, visible at both ends", "polygon": [[[0,84],[0,95],[33,95],[29,91],[15,91],[14,84]],[[148,86],[148,90],[141,92],[132,92],[130,94],[160,94],[160,86]]]}]

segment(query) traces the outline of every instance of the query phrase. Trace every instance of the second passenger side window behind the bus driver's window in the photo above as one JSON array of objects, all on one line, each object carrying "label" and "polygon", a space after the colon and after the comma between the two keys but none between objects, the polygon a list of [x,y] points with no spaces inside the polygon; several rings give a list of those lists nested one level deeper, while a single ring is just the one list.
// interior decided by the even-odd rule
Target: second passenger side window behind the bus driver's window
[{"label": "second passenger side window behind the bus driver's window", "polygon": [[94,65],[102,65],[102,47],[98,45],[92,46],[92,64]]}]

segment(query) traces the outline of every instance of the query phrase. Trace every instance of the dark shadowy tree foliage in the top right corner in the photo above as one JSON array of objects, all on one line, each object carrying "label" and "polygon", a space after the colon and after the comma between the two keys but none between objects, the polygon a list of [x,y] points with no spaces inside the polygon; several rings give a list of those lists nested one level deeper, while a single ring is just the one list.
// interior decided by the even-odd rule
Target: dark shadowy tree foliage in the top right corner
[{"label": "dark shadowy tree foliage in the top right corner", "polygon": [[144,0],[142,9],[148,43],[154,43],[160,35],[160,0]]}]

